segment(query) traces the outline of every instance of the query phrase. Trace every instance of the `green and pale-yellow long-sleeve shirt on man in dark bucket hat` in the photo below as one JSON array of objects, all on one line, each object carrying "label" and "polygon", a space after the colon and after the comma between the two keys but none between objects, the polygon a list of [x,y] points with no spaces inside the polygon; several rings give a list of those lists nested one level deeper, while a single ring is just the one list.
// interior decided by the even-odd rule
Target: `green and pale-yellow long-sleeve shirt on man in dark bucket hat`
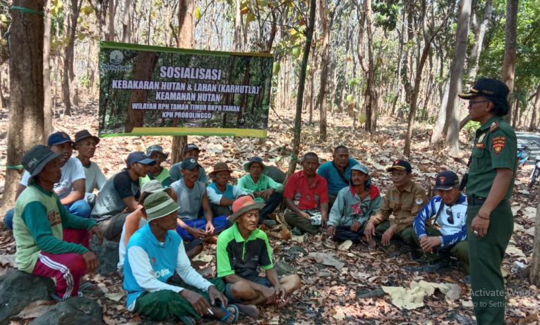
[{"label": "green and pale-yellow long-sleeve shirt on man in dark bucket hat", "polygon": [[62,240],[64,228],[89,229],[96,222],[69,214],[54,192],[37,184],[26,187],[15,202],[13,236],[19,270],[31,273],[39,252],[84,254],[87,248]]}]

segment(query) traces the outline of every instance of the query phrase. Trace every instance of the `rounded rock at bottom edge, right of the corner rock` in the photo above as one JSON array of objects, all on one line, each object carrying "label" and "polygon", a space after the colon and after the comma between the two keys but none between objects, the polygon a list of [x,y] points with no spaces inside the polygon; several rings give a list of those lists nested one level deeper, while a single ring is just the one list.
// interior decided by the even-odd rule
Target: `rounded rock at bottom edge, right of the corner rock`
[{"label": "rounded rock at bottom edge, right of the corner rock", "polygon": [[43,315],[30,322],[32,325],[101,325],[101,307],[86,297],[71,297],[60,301]]}]

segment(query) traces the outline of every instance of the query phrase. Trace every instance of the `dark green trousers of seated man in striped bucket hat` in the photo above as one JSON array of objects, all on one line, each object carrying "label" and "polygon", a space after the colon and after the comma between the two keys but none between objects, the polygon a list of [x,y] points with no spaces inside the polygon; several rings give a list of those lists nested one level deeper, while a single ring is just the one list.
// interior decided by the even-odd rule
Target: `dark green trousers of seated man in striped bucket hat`
[{"label": "dark green trousers of seated man in striped bucket hat", "polygon": [[[209,279],[220,293],[225,291],[225,284],[222,279]],[[208,293],[201,291],[195,287],[184,284],[181,286],[184,289],[195,291],[202,295],[206,300],[210,301]],[[134,311],[139,315],[143,315],[152,320],[160,321],[168,318],[179,318],[181,316],[189,316],[194,319],[201,319],[201,315],[197,314],[190,302],[182,297],[179,293],[172,290],[159,290],[154,293],[145,292],[137,297]]]}]

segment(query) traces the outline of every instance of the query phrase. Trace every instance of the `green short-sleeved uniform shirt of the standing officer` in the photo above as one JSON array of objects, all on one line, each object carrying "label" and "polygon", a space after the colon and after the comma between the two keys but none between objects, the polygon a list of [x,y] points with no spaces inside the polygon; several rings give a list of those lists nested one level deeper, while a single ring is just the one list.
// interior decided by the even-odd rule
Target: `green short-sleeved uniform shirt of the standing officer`
[{"label": "green short-sleeved uniform shirt of the standing officer", "polygon": [[514,178],[517,170],[517,138],[514,129],[503,120],[494,116],[476,130],[476,139],[471,154],[467,196],[487,198],[497,175],[497,168],[514,171],[503,200],[508,200],[514,192]]}]

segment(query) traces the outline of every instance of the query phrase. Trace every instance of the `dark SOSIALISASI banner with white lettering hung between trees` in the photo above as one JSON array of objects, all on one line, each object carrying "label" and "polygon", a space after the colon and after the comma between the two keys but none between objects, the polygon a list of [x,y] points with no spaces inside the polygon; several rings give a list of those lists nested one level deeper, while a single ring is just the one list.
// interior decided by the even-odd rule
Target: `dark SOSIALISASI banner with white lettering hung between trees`
[{"label": "dark SOSIALISASI banner with white lettering hung between trees", "polygon": [[100,42],[100,137],[268,129],[273,57]]}]

